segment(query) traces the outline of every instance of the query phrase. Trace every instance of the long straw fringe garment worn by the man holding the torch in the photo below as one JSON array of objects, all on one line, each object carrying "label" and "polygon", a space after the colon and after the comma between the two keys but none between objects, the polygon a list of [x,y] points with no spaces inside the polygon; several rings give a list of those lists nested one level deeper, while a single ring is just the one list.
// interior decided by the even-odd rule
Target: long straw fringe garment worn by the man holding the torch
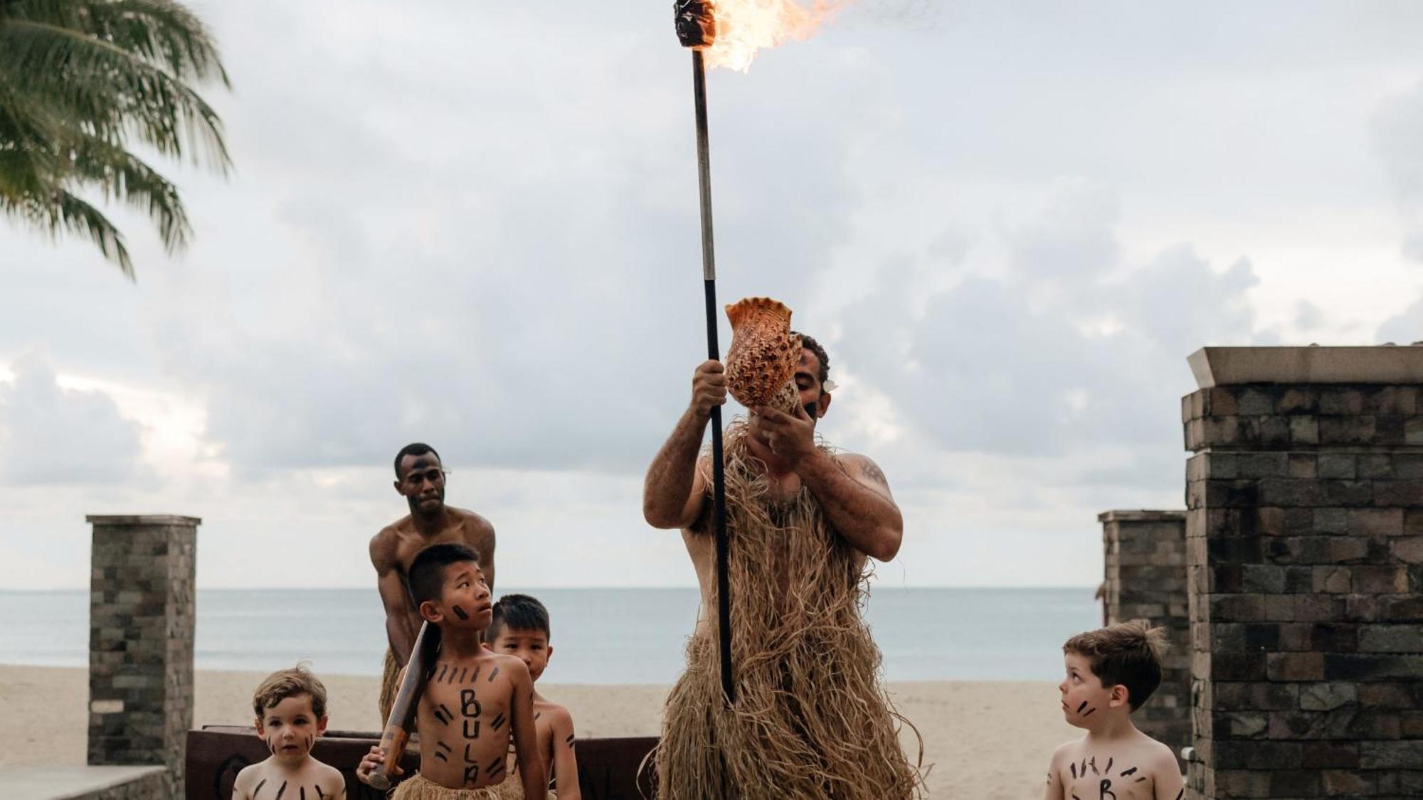
[{"label": "long straw fringe garment worn by the man holding the torch", "polygon": [[667,696],[657,796],[922,797],[922,743],[911,766],[898,737],[899,726],[918,730],[881,689],[879,649],[861,618],[865,557],[808,490],[785,504],[766,500],[764,464],[746,447],[743,420],[727,427],[724,461],[736,707],[721,702],[712,616],[687,643],[687,669]]}]

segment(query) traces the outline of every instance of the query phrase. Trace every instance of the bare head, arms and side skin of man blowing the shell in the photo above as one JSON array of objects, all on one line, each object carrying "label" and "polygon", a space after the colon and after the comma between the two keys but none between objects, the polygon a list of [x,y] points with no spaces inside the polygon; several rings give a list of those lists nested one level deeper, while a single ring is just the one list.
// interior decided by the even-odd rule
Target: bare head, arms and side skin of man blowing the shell
[{"label": "bare head, arms and side skin of man blowing the shell", "polygon": [[[830,410],[830,359],[810,336],[801,335],[795,386],[800,406],[795,414],[774,409],[751,409],[748,448],[766,463],[771,495],[794,497],[810,488],[824,508],[831,527],[864,555],[889,561],[904,541],[904,517],[889,494],[889,483],[865,456],[815,447],[815,423]],[[697,453],[712,420],[712,407],[726,403],[726,370],[720,362],[703,362],[692,376],[692,403],[677,420],[667,443],[647,468],[642,511],[655,528],[682,528],[682,540],[702,585],[700,631],[707,622],[712,588],[716,585],[716,542],[697,521],[712,495],[697,470]],[[807,409],[814,414],[807,413]]]}]

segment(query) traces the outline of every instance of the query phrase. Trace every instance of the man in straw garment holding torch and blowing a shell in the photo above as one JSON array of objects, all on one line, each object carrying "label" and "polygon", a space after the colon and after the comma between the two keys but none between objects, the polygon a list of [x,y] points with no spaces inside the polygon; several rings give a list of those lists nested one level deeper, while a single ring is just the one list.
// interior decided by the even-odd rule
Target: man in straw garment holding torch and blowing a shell
[{"label": "man in straw garment holding torch and blowing a shell", "polygon": [[801,346],[794,413],[756,407],[726,431],[730,707],[716,646],[710,458],[699,458],[712,407],[726,403],[721,363],[696,369],[692,403],[647,468],[643,515],[682,528],[702,586],[687,669],[663,713],[663,800],[904,800],[921,786],[859,616],[867,557],[894,558],[904,520],[874,461],[815,441],[830,359],[810,336]]}]

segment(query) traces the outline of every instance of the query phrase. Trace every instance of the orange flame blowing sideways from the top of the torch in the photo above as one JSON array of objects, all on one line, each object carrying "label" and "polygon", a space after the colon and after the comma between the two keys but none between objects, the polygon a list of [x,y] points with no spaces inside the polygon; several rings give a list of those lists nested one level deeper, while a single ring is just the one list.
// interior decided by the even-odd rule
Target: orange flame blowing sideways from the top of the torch
[{"label": "orange flame blowing sideways from the top of the torch", "polygon": [[804,40],[835,11],[831,0],[714,0],[716,40],[703,51],[706,65],[747,71],[756,51],[785,40]]}]

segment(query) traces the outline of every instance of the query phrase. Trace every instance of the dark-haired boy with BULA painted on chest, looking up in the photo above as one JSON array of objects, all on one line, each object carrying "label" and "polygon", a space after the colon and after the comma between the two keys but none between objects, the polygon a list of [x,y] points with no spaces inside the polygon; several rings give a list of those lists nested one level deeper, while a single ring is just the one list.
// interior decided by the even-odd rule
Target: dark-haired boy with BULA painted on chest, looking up
[{"label": "dark-haired boy with BULA painted on chest, looking up", "polygon": [[[407,582],[420,616],[440,628],[440,653],[416,710],[420,772],[396,787],[394,800],[492,800],[507,777],[509,742],[518,753],[538,747],[529,670],[480,643],[492,609],[472,548],[427,547]],[[380,747],[371,747],[356,777],[369,781],[380,762]],[[525,794],[542,797],[542,759],[519,759],[518,772]]]}]

